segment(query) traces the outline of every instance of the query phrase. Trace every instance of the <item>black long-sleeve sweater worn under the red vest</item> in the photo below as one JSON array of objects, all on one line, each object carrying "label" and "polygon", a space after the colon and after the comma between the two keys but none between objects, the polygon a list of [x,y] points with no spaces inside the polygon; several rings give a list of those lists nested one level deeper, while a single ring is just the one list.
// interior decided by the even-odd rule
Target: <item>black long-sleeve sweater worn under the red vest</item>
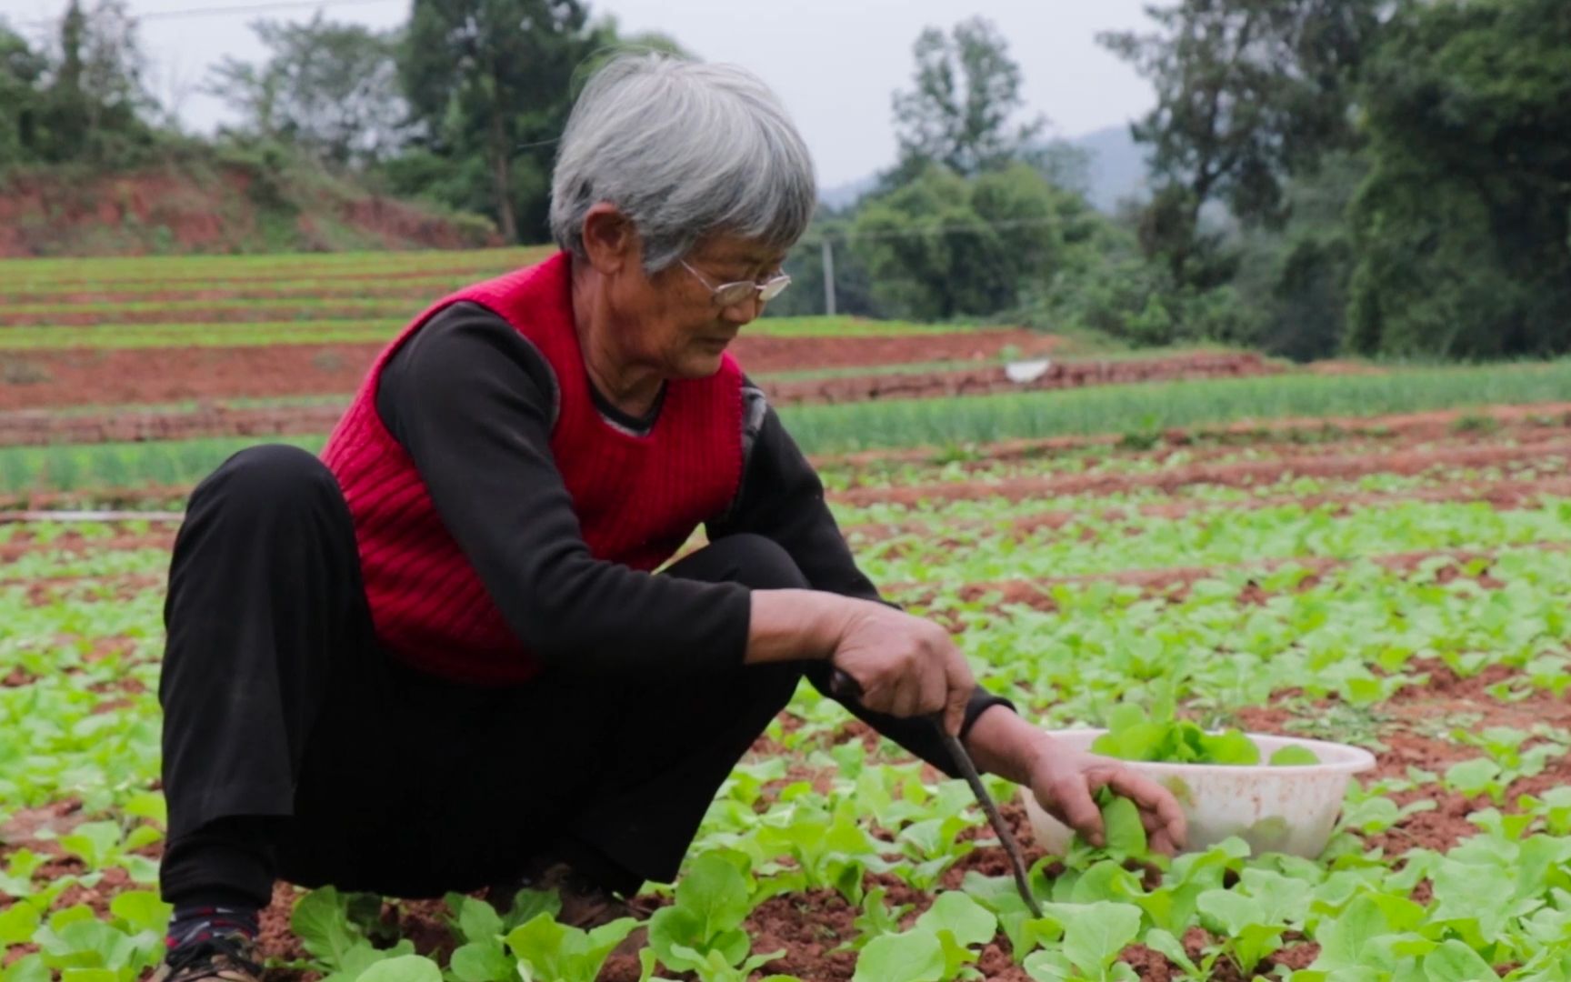
[{"label": "black long-sleeve sweater worn under the red vest", "polygon": [[[591,387],[594,393],[594,387]],[[647,431],[660,404],[630,418],[595,394],[602,416]],[[573,671],[636,674],[720,671],[740,665],[751,619],[749,591],[734,583],[650,577],[613,562],[586,561],[578,518],[551,454],[556,379],[544,355],[498,314],[456,303],[416,332],[382,371],[377,413],[410,454],[443,525],[534,654]],[[823,484],[756,390],[745,413],[745,467],[731,509],[705,525],[710,539],[756,533],[778,542],[814,589],[881,600],[856,567],[823,500]],[[575,561],[567,562],[564,556]],[[570,595],[566,622],[536,627],[531,589],[540,577]],[[652,644],[652,639],[658,639]],[[680,663],[650,663],[650,649],[680,652]],[[828,691],[825,663],[807,676]],[[911,753],[955,773],[933,727],[842,699],[853,713]],[[966,721],[1009,704],[977,688]]]}]

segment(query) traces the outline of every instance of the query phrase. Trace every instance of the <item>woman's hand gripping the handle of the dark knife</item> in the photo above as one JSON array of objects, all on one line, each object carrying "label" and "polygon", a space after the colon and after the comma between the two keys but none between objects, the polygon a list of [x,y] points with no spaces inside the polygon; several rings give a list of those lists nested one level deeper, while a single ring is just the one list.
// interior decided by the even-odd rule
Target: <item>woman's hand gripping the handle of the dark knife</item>
[{"label": "woman's hand gripping the handle of the dark knife", "polygon": [[850,676],[858,702],[891,716],[943,713],[958,735],[976,679],[943,627],[899,610],[859,600],[847,616],[829,663]]}]

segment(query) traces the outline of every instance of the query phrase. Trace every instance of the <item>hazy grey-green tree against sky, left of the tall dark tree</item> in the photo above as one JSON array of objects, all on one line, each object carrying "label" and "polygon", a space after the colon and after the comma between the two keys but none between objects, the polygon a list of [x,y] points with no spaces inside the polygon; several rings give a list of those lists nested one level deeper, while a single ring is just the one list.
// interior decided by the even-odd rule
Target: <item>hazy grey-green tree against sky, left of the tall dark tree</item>
[{"label": "hazy grey-green tree against sky, left of the tall dark tree", "polygon": [[372,165],[399,148],[408,107],[394,33],[320,13],[308,24],[258,20],[251,30],[267,46],[267,61],[225,58],[207,85],[242,113],[247,129],[336,167]]}]

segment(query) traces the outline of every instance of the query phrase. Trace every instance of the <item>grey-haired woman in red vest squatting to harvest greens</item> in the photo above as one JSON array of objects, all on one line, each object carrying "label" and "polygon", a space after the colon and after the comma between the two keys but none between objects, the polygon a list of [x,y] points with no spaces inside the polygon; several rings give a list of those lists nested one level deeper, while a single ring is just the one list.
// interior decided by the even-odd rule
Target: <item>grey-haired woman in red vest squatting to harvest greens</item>
[{"label": "grey-haired woman in red vest squatting to harvest greens", "polygon": [[[160,979],[256,977],[280,878],[625,913],[803,676],[947,771],[941,715],[1092,836],[1111,786],[1158,845],[1181,837],[1164,790],[1056,748],[941,627],[880,602],[726,354],[815,201],[775,96],[613,61],[551,193],[561,251],[415,317],[320,459],[248,449],[190,500],[159,693]],[[655,572],[699,525],[710,544]]]}]

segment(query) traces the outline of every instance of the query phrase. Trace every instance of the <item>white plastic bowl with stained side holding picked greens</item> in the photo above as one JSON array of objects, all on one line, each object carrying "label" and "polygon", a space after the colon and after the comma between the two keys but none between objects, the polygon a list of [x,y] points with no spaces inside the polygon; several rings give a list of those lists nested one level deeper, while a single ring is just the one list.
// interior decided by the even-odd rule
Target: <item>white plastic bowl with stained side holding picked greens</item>
[{"label": "white plastic bowl with stained side holding picked greens", "polygon": [[[1060,746],[1090,751],[1101,729],[1048,731]],[[1298,767],[1238,767],[1225,764],[1147,764],[1125,765],[1174,792],[1189,820],[1185,852],[1205,852],[1229,836],[1240,836],[1258,853],[1290,853],[1313,859],[1326,848],[1346,797],[1348,778],[1375,767],[1375,754],[1359,746],[1246,734],[1260,748],[1260,759],[1284,746],[1302,746],[1320,764]],[[1035,797],[1021,793],[1037,844],[1064,855],[1071,831],[1037,806]]]}]

